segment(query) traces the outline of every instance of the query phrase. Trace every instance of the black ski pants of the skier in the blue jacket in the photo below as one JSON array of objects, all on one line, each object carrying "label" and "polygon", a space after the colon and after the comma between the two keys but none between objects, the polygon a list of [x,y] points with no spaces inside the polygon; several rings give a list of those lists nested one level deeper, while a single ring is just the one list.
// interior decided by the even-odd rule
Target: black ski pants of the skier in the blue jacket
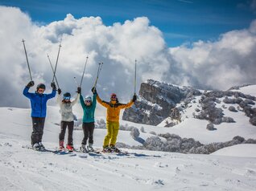
[{"label": "black ski pants of the skier in the blue jacket", "polygon": [[31,133],[31,145],[42,142],[45,117],[32,117],[33,131]]}]

